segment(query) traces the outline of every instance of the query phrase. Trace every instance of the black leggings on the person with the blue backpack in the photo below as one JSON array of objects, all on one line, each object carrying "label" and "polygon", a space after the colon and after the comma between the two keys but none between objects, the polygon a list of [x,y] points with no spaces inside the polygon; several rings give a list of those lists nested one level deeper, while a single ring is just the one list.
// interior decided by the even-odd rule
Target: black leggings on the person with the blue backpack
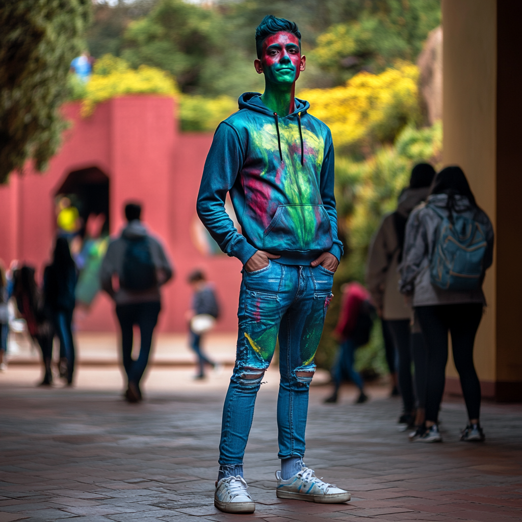
[{"label": "black leggings on the person with the blue backpack", "polygon": [[428,348],[426,420],[437,422],[448,360],[448,330],[452,335],[453,360],[460,376],[469,419],[480,414],[480,382],[473,365],[473,343],[482,318],[481,303],[441,304],[416,307]]}]

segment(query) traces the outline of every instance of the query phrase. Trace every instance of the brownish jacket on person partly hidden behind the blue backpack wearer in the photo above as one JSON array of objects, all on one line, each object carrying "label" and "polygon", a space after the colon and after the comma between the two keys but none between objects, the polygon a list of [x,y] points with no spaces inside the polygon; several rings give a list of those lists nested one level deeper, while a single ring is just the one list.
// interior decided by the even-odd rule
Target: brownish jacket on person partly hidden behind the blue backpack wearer
[{"label": "brownish jacket on person partly hidden behind the blue backpack wearer", "polygon": [[[399,197],[397,212],[405,218],[423,201],[429,187],[407,188]],[[385,216],[370,244],[366,262],[366,286],[372,294],[377,309],[382,309],[383,319],[410,319],[411,307],[399,292],[399,254],[393,213]]]}]

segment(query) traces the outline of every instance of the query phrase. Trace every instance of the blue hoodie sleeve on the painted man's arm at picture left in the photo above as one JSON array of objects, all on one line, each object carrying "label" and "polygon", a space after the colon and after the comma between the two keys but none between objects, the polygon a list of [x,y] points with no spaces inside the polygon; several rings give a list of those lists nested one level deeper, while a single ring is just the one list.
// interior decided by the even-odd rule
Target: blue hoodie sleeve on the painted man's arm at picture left
[{"label": "blue hoodie sleeve on the painted man's arm at picture left", "polygon": [[243,166],[244,153],[239,136],[227,122],[216,130],[208,152],[197,198],[197,214],[221,250],[237,257],[243,265],[257,249],[234,227],[225,210],[227,193]]}]

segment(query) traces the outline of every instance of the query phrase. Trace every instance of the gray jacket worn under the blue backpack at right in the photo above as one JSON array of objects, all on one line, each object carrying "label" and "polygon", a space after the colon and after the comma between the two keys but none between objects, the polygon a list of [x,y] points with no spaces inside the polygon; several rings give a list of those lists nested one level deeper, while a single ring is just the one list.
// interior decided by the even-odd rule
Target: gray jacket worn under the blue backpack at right
[{"label": "gray jacket worn under the blue backpack at right", "polygon": [[[442,221],[427,204],[435,205],[446,216],[448,196],[433,194],[426,204],[414,209],[406,224],[406,238],[402,264],[400,266],[400,291],[413,294],[413,306],[437,304],[482,303],[485,304],[482,288],[476,290],[443,290],[430,281],[430,261],[436,242],[437,227]],[[484,270],[493,263],[493,227],[488,216],[480,209],[473,209],[468,198],[455,196],[455,210],[482,224],[488,243],[484,255]]]}]

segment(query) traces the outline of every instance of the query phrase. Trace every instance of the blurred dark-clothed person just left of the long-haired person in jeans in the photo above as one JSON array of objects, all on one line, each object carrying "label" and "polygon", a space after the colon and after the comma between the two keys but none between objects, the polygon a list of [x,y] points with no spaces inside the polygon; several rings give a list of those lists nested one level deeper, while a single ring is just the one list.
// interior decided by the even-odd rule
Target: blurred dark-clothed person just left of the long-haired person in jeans
[{"label": "blurred dark-clothed person just left of the long-haired person in jeans", "polygon": [[25,319],[27,331],[42,350],[44,377],[41,386],[53,383],[51,361],[53,356],[53,317],[43,293],[34,278],[34,268],[27,265],[13,271],[13,296],[20,315]]}]

